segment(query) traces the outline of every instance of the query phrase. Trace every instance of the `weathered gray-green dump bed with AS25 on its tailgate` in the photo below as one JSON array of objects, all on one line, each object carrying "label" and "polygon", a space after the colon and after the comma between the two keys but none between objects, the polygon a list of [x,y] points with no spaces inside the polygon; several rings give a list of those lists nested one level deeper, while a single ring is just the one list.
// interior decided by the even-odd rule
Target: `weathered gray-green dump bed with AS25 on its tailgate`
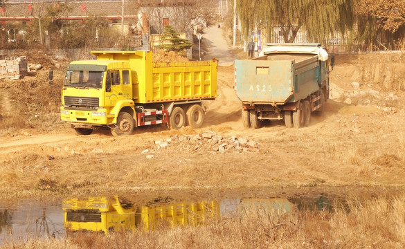
[{"label": "weathered gray-green dump bed with AS25 on its tailgate", "polygon": [[242,102],[285,104],[318,90],[318,56],[269,54],[235,61],[235,87]]}]

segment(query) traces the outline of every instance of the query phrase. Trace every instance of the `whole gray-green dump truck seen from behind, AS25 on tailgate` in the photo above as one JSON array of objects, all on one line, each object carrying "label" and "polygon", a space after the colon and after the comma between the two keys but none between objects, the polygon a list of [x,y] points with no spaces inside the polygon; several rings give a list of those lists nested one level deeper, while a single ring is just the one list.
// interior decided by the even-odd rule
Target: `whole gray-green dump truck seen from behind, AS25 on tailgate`
[{"label": "whole gray-green dump truck seen from behind, AS25 on tailgate", "polygon": [[334,58],[321,44],[266,44],[259,57],[235,61],[235,91],[242,101],[244,127],[284,120],[305,127],[312,113],[323,113],[329,98]]}]

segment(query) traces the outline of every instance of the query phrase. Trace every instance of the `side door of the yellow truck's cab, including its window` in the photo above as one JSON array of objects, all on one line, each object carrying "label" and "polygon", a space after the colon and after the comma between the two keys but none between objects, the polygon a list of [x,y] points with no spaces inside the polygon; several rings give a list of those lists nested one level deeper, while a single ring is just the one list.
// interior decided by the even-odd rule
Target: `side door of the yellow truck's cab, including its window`
[{"label": "side door of the yellow truck's cab, including its window", "polygon": [[107,71],[105,81],[105,104],[108,107],[114,107],[118,100],[123,100],[123,89],[120,80],[120,71]]}]

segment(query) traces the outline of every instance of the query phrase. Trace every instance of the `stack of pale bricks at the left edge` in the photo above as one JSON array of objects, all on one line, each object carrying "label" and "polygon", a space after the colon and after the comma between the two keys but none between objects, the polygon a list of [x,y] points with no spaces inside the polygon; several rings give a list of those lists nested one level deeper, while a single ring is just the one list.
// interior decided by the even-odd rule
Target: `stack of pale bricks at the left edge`
[{"label": "stack of pale bricks at the left edge", "polygon": [[18,80],[27,74],[27,58],[4,57],[0,60],[0,79]]}]

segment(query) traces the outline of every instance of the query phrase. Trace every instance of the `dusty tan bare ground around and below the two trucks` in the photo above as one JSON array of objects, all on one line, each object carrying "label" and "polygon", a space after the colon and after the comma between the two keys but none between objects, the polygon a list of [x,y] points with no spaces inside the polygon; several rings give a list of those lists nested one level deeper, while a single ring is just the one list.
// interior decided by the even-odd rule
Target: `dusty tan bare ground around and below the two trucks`
[{"label": "dusty tan bare ground around and below the two trucks", "polygon": [[[51,60],[52,61],[52,60]],[[309,127],[267,122],[244,129],[233,67],[219,66],[204,127],[107,130],[76,136],[59,120],[62,70],[0,82],[0,196],[120,194],[138,203],[231,196],[402,191],[405,185],[403,54],[336,55],[331,96]],[[202,138],[209,133],[213,138]],[[200,135],[200,136],[196,136]],[[251,141],[235,146],[235,140]],[[162,146],[162,143],[165,145]],[[54,159],[49,155],[52,155]]]}]

